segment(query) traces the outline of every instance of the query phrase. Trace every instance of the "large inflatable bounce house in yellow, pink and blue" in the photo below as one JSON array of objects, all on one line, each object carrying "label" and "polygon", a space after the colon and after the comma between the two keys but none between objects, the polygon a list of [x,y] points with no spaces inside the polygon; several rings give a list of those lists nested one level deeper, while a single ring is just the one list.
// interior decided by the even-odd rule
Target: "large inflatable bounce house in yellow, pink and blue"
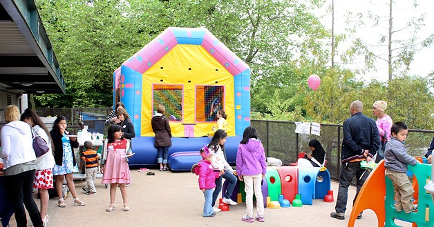
[{"label": "large inflatable bounce house in yellow, pink and blue", "polygon": [[250,70],[207,29],[167,28],[115,70],[113,88],[113,103],[125,104],[135,128],[130,166],[157,164],[151,119],[158,104],[171,126],[172,170],[190,170],[200,159],[219,109],[229,124],[227,161],[235,163],[250,125]]}]

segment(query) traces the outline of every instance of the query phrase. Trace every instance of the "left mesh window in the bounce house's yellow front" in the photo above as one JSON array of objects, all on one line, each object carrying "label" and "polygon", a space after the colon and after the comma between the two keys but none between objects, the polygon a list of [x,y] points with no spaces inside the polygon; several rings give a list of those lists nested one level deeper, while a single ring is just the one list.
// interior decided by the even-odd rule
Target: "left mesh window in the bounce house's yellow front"
[{"label": "left mesh window in the bounce house's yellow front", "polygon": [[153,85],[153,112],[158,104],[166,108],[164,115],[169,121],[182,121],[182,85]]}]

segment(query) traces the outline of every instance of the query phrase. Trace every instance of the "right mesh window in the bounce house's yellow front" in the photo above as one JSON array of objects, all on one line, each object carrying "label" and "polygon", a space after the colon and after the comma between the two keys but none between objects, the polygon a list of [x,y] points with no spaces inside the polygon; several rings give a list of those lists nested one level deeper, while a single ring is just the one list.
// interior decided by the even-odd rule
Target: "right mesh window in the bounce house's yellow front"
[{"label": "right mesh window in the bounce house's yellow front", "polygon": [[224,106],[225,86],[196,86],[196,121],[217,121]]}]

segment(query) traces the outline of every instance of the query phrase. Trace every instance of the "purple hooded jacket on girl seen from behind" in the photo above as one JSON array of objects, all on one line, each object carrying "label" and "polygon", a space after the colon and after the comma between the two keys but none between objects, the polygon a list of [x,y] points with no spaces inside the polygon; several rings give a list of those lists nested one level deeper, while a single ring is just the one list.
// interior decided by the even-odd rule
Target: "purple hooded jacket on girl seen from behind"
[{"label": "purple hooded jacket on girl seen from behind", "polygon": [[257,175],[267,172],[265,151],[260,140],[249,139],[247,144],[238,145],[236,152],[236,174]]}]

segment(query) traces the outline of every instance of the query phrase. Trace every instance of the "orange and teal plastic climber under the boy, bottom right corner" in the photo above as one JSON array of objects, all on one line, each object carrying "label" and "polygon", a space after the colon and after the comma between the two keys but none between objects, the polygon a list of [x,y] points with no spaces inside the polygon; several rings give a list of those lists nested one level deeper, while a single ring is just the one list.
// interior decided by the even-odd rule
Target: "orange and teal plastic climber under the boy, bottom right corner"
[{"label": "orange and teal plastic climber under the boy, bottom right corner", "polygon": [[397,226],[395,219],[400,219],[413,223],[413,226],[432,227],[434,224],[433,197],[432,194],[425,190],[433,186],[432,181],[429,182],[429,179],[431,179],[434,173],[432,166],[428,164],[408,166],[408,170],[413,172],[413,188],[415,189],[415,194],[413,195],[413,197],[415,197],[414,203],[418,204],[417,212],[410,214],[404,212],[397,213],[395,210],[393,206],[395,196],[393,184],[392,181],[384,175],[384,170],[384,160],[382,160],[369,175],[368,179],[366,179],[352,207],[348,226],[354,226],[356,217],[361,211],[370,209],[377,215],[378,226]]}]

